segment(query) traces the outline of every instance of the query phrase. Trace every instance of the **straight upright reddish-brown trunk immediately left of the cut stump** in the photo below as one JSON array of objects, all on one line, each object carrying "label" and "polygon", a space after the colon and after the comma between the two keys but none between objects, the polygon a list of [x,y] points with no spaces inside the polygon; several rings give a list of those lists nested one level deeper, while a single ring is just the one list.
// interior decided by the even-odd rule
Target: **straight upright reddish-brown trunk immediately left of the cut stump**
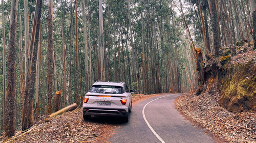
[{"label": "straight upright reddish-brown trunk immediately left of the cut stump", "polygon": [[48,0],[48,50],[47,50],[47,113],[52,113],[53,93],[53,0]]}]

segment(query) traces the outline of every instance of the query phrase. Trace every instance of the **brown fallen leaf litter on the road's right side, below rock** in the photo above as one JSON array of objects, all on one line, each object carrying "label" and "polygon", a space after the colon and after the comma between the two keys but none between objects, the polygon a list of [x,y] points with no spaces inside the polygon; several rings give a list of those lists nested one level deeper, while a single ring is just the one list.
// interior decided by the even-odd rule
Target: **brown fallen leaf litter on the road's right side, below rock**
[{"label": "brown fallen leaf litter on the road's right side, below rock", "polygon": [[185,94],[176,108],[225,142],[256,142],[256,112],[229,112],[219,104],[217,82],[200,96]]}]

